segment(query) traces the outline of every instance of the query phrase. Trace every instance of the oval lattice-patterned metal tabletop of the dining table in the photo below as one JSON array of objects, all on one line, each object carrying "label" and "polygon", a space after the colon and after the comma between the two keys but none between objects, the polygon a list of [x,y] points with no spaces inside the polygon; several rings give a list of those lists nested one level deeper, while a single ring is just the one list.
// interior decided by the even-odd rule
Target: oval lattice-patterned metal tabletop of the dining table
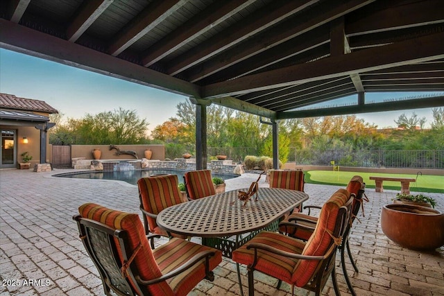
[{"label": "oval lattice-patterned metal tabletop of the dining table", "polygon": [[230,236],[262,228],[308,199],[289,189],[260,188],[258,193],[258,200],[253,196],[245,208],[237,190],[178,204],[160,212],[157,224],[178,234]]}]

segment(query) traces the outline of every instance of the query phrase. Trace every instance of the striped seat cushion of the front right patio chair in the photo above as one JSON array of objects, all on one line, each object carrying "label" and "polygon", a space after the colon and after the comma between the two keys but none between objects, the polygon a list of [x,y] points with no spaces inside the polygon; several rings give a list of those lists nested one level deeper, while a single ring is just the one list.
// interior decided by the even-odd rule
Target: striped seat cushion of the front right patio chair
[{"label": "striped seat cushion of the front right patio chair", "polygon": [[[305,247],[305,243],[302,241],[276,232],[260,232],[250,241],[250,243],[253,242],[264,243],[270,247],[275,247],[278,250],[291,252],[293,254],[300,254]],[[254,250],[247,250],[247,245],[248,243],[234,250],[232,254],[233,261],[245,265],[253,263],[255,256]],[[287,256],[278,256],[263,251],[259,251],[257,255],[259,258],[255,270],[264,272],[267,275],[272,275],[277,279],[282,279],[282,281],[287,281],[287,283],[291,281],[291,274],[298,263],[298,259],[291,259]]]}]

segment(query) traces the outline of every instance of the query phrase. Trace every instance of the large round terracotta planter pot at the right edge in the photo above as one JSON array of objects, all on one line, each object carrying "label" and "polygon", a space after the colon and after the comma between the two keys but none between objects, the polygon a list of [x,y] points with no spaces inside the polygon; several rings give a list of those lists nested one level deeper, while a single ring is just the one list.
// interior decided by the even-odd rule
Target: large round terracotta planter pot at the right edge
[{"label": "large round terracotta planter pot at the right edge", "polygon": [[386,204],[381,212],[382,232],[412,250],[434,250],[444,245],[444,214],[429,207]]}]

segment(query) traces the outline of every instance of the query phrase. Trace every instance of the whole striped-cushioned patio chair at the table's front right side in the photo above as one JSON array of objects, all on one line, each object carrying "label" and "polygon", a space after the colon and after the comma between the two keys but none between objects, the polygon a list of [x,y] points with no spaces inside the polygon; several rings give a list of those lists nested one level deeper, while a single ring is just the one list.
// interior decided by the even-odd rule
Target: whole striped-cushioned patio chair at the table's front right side
[{"label": "whole striped-cushioned patio chair at the table's front right side", "polygon": [[348,223],[352,198],[345,189],[339,189],[325,202],[313,235],[305,243],[276,232],[261,232],[248,243],[234,250],[233,261],[247,265],[248,291],[254,295],[253,273],[258,270],[294,286],[321,295],[327,279],[332,275],[334,291],[339,295],[336,283],[336,249],[341,244]]}]

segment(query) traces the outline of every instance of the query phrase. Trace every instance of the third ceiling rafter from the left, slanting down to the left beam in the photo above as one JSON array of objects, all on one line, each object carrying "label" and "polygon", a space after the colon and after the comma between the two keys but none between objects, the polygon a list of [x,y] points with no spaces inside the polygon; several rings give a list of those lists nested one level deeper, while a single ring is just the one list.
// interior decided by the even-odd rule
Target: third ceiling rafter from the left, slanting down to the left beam
[{"label": "third ceiling rafter from the left, slanting down to the left beam", "polygon": [[167,19],[171,13],[181,8],[189,0],[155,0],[140,12],[130,24],[117,34],[117,37],[110,42],[108,51],[111,55],[117,56],[129,46],[137,42],[155,26]]}]

